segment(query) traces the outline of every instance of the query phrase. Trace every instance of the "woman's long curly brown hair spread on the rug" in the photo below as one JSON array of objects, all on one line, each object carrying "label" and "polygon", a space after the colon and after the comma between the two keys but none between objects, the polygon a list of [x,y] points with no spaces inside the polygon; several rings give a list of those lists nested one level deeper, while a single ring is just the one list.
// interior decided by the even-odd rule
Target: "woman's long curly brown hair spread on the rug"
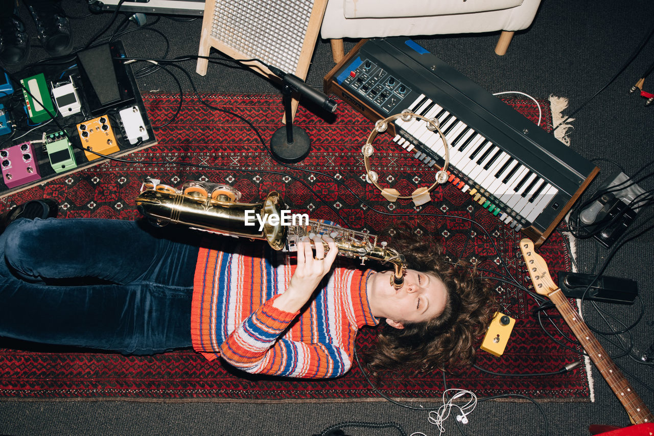
[{"label": "woman's long curly brown hair spread on the rug", "polygon": [[407,223],[392,232],[392,247],[404,254],[407,266],[442,280],[447,299],[443,312],[429,321],[404,322],[404,329],[385,324],[377,346],[366,355],[368,366],[373,372],[406,365],[415,371],[456,372],[472,365],[477,342],[496,312],[489,283],[470,264],[448,261],[435,238],[415,236]]}]

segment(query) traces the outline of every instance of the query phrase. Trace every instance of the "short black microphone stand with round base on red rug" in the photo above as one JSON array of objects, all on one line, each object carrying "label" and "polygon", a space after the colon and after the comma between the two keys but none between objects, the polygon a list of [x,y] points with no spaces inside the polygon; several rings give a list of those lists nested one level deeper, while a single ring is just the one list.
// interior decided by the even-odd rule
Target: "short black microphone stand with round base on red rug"
[{"label": "short black microphone stand with round base on red rug", "polygon": [[273,157],[286,164],[300,162],[311,151],[311,139],[301,127],[293,125],[291,98],[293,87],[285,80],[282,86],[282,101],[286,113],[286,126],[275,130],[270,139],[270,151]]}]

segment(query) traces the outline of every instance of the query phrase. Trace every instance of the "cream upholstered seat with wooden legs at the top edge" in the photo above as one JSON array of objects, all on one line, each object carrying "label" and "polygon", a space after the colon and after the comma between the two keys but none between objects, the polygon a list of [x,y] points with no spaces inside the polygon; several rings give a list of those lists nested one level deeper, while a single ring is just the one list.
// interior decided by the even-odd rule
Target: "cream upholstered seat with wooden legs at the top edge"
[{"label": "cream upholstered seat with wooden legs at the top edge", "polygon": [[513,33],[526,29],[540,0],[329,0],[320,35],[330,39],[334,62],[343,38],[444,35],[502,31],[495,47],[506,54]]}]

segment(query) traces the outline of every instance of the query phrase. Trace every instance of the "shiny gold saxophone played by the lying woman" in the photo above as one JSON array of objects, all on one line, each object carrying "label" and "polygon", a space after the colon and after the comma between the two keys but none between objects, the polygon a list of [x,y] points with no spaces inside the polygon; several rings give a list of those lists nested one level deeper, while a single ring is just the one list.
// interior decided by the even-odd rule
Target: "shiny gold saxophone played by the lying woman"
[{"label": "shiny gold saxophone played by the lying woman", "polygon": [[[198,230],[266,241],[277,251],[297,251],[302,236],[328,235],[338,254],[394,266],[390,283],[400,289],[404,283],[404,255],[378,242],[377,236],[310,220],[308,215],[288,215],[284,200],[271,191],[261,203],[240,203],[241,192],[228,185],[189,181],[181,190],[146,179],[136,206],[153,225],[182,224]],[[300,215],[298,217],[298,215]],[[284,220],[284,218],[288,218]],[[326,246],[326,244],[325,244]]]}]

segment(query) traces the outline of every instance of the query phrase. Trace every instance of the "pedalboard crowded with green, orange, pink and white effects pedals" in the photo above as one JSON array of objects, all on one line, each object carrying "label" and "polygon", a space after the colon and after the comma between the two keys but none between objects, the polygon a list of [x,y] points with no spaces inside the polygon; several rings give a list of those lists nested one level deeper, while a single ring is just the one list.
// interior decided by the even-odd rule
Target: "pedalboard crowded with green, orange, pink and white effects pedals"
[{"label": "pedalboard crowded with green, orange, pink and white effects pedals", "polygon": [[0,198],[156,145],[122,42],[82,52],[0,71]]}]

